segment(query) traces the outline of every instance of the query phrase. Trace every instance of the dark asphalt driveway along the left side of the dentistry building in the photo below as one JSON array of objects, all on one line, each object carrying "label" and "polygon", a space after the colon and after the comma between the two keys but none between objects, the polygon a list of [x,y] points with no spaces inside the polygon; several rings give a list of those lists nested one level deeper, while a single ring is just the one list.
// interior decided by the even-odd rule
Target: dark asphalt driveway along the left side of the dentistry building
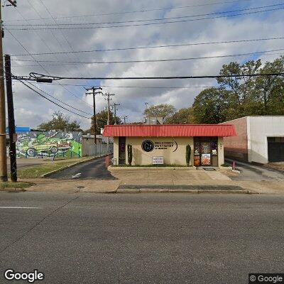
[{"label": "dark asphalt driveway along the left side of the dentistry building", "polygon": [[115,180],[105,165],[105,158],[91,160],[86,163],[75,165],[74,167],[67,168],[61,172],[51,175],[49,178],[55,179],[97,179],[97,180]]}]

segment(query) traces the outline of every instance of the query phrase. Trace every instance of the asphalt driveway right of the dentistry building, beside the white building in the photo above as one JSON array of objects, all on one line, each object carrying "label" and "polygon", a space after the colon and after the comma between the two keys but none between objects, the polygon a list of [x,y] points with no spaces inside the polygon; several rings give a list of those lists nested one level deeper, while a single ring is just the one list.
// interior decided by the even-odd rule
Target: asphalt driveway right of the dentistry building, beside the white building
[{"label": "asphalt driveway right of the dentistry building, beside the white building", "polygon": [[[226,159],[226,161],[230,165],[233,162],[233,160],[229,159]],[[261,165],[251,165],[236,161],[236,170],[239,170],[241,173],[235,177],[230,177],[232,180],[284,180],[284,173]]]}]

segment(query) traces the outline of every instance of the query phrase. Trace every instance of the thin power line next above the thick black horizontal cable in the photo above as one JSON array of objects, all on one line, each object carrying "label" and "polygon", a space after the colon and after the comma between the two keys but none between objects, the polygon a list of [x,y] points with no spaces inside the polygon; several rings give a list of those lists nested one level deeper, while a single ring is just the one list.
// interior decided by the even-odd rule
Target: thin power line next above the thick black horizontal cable
[{"label": "thin power line next above the thick black horizontal cable", "polygon": [[[116,60],[116,61],[55,61],[55,60],[37,60],[40,63],[46,62],[58,62],[58,64],[54,65],[61,65],[60,63],[64,64],[116,64],[116,63],[140,63],[140,62],[173,62],[173,61],[186,61],[186,60],[200,60],[200,59],[212,59],[212,58],[232,58],[237,56],[245,56],[245,55],[256,55],[256,54],[263,54],[263,53],[271,53],[275,51],[282,51],[284,48],[279,48],[275,50],[264,50],[264,51],[256,51],[254,53],[239,53],[233,55],[216,55],[216,56],[202,56],[196,58],[168,58],[168,59],[149,59],[149,60]],[[33,62],[34,60],[28,59],[13,59],[12,61],[16,62]]]}]

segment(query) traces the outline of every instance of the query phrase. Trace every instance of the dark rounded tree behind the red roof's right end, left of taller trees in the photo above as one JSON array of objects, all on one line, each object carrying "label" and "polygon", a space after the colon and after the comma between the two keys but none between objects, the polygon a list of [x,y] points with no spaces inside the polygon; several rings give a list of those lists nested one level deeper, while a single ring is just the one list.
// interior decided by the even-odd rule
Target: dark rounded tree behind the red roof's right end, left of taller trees
[{"label": "dark rounded tree behind the red roof's right end, left of taller trees", "polygon": [[193,103],[197,124],[219,124],[226,119],[228,91],[222,88],[204,89]]}]

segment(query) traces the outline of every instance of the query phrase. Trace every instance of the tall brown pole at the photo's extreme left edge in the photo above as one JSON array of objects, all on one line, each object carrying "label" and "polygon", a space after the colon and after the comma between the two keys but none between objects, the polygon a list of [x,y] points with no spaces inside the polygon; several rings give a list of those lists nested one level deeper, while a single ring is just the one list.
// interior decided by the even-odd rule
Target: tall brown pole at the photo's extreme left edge
[{"label": "tall brown pole at the photo's extreme left edge", "polygon": [[[2,37],[3,27],[1,18],[1,0],[0,0],[0,181],[6,182],[7,178],[7,154],[6,154],[6,112],[5,112],[5,87],[4,87],[4,64]],[[13,137],[10,137],[13,139]]]}]

